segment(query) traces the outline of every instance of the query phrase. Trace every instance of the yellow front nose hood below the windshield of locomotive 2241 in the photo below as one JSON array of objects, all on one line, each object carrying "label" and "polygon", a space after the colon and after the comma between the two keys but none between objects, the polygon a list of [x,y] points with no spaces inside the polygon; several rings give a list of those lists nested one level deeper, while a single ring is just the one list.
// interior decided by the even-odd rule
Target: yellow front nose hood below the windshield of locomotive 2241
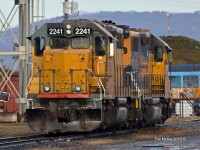
[{"label": "yellow front nose hood below the windshield of locomotive 2241", "polygon": [[50,85],[51,92],[74,93],[75,86],[79,85],[82,93],[86,93],[89,85],[86,78],[90,75],[89,71],[86,74],[86,70],[91,68],[90,50],[56,49],[45,51],[43,55],[46,58],[52,56],[51,61],[44,61],[43,81],[44,85]]}]

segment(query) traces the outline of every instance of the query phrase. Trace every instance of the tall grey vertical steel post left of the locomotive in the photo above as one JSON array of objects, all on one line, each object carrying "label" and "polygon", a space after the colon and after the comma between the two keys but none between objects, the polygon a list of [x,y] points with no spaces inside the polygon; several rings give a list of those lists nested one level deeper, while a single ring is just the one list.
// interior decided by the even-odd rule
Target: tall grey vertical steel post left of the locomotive
[{"label": "tall grey vertical steel post left of the locomotive", "polygon": [[[15,1],[16,2],[16,1]],[[19,68],[19,116],[23,121],[27,105],[27,85],[28,85],[28,60],[29,60],[29,41],[26,37],[29,36],[30,30],[30,0],[18,0],[19,5],[19,51],[25,52],[25,55],[20,55]]]}]

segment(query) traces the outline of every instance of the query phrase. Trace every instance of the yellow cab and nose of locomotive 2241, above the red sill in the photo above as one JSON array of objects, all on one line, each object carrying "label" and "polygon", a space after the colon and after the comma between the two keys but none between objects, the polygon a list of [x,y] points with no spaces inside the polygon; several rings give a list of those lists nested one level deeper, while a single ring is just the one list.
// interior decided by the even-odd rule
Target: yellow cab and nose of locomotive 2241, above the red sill
[{"label": "yellow cab and nose of locomotive 2241, above the red sill", "polygon": [[[86,20],[82,22],[87,23]],[[76,89],[78,93],[89,93],[89,90],[95,90],[89,86],[96,81],[85,81],[90,74],[87,71],[93,70],[95,76],[105,76],[106,57],[110,51],[110,56],[114,53],[115,38],[89,21],[79,27],[82,22],[46,24],[32,36],[33,74],[40,85],[39,89],[31,89],[32,82],[30,93],[75,93]],[[62,76],[58,78],[58,74]],[[79,81],[74,81],[77,78]]]}]

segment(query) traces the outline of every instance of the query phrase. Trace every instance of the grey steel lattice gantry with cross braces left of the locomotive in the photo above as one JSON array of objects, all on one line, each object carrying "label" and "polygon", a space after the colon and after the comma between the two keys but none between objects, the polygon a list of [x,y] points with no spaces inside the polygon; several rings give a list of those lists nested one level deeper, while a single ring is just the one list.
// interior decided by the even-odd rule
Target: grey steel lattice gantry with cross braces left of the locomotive
[{"label": "grey steel lattice gantry with cross braces left of the locomotive", "polygon": [[[42,15],[39,14],[39,0],[14,0],[14,5],[6,16],[2,11],[0,5],[0,45],[5,43],[8,40],[13,46],[6,49],[0,49],[0,92],[4,92],[3,89],[5,86],[9,88],[11,94],[16,98],[19,103],[19,116],[23,121],[24,114],[27,107],[27,84],[29,77],[29,56],[30,44],[27,37],[30,35],[30,18],[32,18],[32,33],[34,32],[34,18],[42,17],[44,20],[44,1],[42,0]],[[12,1],[13,2],[13,1]],[[1,2],[0,2],[1,3]],[[35,4],[37,14],[34,14]],[[19,16],[19,37],[17,33],[11,28],[11,23],[13,19]],[[31,17],[32,16],[32,17]],[[6,40],[5,40],[6,37]],[[6,43],[9,43],[6,41]],[[4,58],[13,56],[9,61],[13,61],[11,66],[4,66]],[[11,81],[11,76],[14,72],[19,72],[19,91],[16,86]]]}]

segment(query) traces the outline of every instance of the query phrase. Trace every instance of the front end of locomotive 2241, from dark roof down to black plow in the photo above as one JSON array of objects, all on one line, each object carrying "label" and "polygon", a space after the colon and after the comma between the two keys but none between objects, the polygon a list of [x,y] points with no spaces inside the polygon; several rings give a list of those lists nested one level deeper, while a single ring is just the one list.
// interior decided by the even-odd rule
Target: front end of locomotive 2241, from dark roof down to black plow
[{"label": "front end of locomotive 2241, from dark roof down to black plow", "polygon": [[[48,131],[54,127],[53,130],[62,131],[60,126],[67,131],[98,128],[102,98],[107,94],[105,82],[108,86],[114,82],[113,78],[105,80],[108,74],[113,74],[110,63],[117,43],[113,35],[95,21],[67,20],[43,25],[31,36],[31,42],[33,76],[29,98],[34,100],[34,108],[27,109],[29,126]],[[108,92],[107,96],[110,95]],[[76,121],[80,120],[79,126]],[[88,121],[89,126],[85,125],[87,120],[93,120]],[[42,127],[36,125],[38,122],[44,122],[39,123]]]}]

